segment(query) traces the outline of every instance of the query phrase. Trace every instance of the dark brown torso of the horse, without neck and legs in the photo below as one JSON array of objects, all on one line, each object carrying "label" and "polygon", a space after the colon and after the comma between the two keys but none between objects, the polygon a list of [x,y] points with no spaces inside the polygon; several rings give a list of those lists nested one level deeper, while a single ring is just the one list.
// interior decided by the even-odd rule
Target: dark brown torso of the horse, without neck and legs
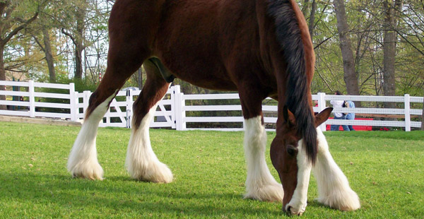
[{"label": "dark brown torso of the horse, without neck and legs", "polygon": [[240,81],[251,80],[276,93],[276,71],[285,71],[285,60],[268,5],[268,0],[117,0],[110,39],[134,41],[131,47],[158,57],[194,85],[237,90]]}]

